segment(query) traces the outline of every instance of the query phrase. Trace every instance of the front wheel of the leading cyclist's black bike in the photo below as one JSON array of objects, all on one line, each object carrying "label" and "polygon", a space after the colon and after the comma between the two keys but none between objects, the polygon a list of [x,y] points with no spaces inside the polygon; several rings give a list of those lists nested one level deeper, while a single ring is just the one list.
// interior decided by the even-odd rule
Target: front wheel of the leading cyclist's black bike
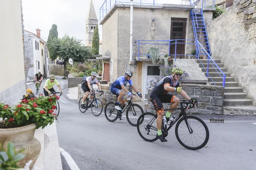
[{"label": "front wheel of the leading cyclist's black bike", "polygon": [[[186,123],[187,122],[187,123]],[[189,132],[188,126],[192,130]],[[209,129],[202,119],[196,116],[187,116],[180,119],[175,127],[175,135],[179,143],[189,150],[199,150],[209,140]]]}]

